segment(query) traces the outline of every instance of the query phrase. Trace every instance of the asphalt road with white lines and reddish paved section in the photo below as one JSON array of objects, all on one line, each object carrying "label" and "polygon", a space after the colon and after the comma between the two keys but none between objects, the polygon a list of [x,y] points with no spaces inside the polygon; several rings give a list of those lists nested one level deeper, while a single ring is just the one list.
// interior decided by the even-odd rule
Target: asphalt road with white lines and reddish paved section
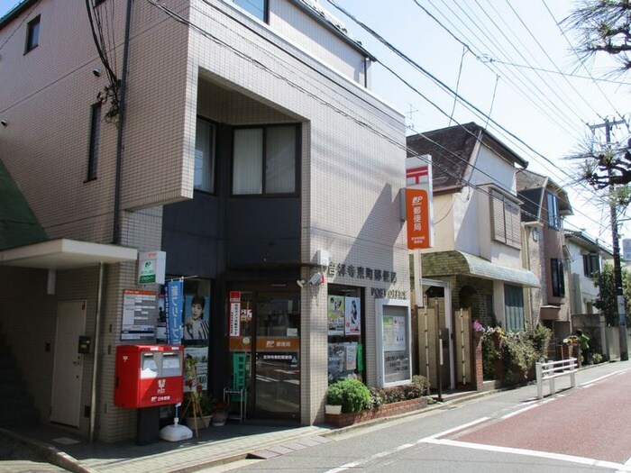
[{"label": "asphalt road with white lines and reddish paved section", "polygon": [[557,395],[528,386],[344,432],[322,445],[220,471],[631,472],[631,366],[581,370]]}]

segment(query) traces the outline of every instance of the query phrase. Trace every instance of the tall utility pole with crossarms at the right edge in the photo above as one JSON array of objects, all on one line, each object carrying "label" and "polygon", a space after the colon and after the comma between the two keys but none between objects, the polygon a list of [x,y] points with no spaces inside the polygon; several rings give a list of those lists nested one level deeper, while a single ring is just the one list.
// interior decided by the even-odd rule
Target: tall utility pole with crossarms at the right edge
[{"label": "tall utility pole with crossarms at the right edge", "polygon": [[[626,124],[625,120],[614,120],[609,122],[605,119],[605,123],[590,126],[590,130],[594,131],[597,128],[605,128],[605,140],[607,143],[607,149],[611,145],[611,127],[618,124]],[[611,170],[608,170],[609,177],[611,176]],[[627,334],[626,334],[626,308],[625,308],[625,296],[622,289],[622,267],[620,266],[620,241],[617,234],[617,206],[614,199],[614,186],[609,186],[609,212],[611,214],[611,239],[613,243],[614,253],[614,281],[616,284],[616,302],[617,302],[617,324],[620,334],[620,360],[626,361],[629,359],[629,353],[627,348]]]}]

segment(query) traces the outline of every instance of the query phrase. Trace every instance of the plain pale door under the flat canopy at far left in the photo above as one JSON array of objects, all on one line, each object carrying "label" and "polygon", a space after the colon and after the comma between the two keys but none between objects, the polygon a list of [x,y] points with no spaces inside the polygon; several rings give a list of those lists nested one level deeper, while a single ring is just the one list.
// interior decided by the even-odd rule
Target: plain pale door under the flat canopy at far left
[{"label": "plain pale door under the flat canopy at far left", "polygon": [[86,329],[86,301],[61,301],[57,309],[55,361],[52,374],[50,421],[79,426],[83,355],[78,338]]}]

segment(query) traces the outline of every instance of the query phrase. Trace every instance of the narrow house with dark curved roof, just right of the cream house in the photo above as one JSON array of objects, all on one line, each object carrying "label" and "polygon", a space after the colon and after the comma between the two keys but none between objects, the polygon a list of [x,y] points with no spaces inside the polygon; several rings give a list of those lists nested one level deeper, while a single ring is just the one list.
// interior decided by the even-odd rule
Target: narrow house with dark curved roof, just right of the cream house
[{"label": "narrow house with dark curved roof, just right of the cream house", "polygon": [[572,215],[567,192],[553,179],[526,169],[517,172],[522,201],[527,268],[541,280],[528,295],[533,323],[552,329],[552,347],[572,332],[570,285],[563,236],[563,219]]}]

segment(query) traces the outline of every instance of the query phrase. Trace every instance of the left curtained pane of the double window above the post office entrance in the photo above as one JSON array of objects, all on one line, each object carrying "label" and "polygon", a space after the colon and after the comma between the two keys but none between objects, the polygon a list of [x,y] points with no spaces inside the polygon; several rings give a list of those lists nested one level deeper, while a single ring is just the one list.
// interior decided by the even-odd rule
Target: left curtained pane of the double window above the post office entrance
[{"label": "left curtained pane of the double window above the post office entrance", "polygon": [[233,194],[261,194],[263,183],[263,131],[234,131]]}]

